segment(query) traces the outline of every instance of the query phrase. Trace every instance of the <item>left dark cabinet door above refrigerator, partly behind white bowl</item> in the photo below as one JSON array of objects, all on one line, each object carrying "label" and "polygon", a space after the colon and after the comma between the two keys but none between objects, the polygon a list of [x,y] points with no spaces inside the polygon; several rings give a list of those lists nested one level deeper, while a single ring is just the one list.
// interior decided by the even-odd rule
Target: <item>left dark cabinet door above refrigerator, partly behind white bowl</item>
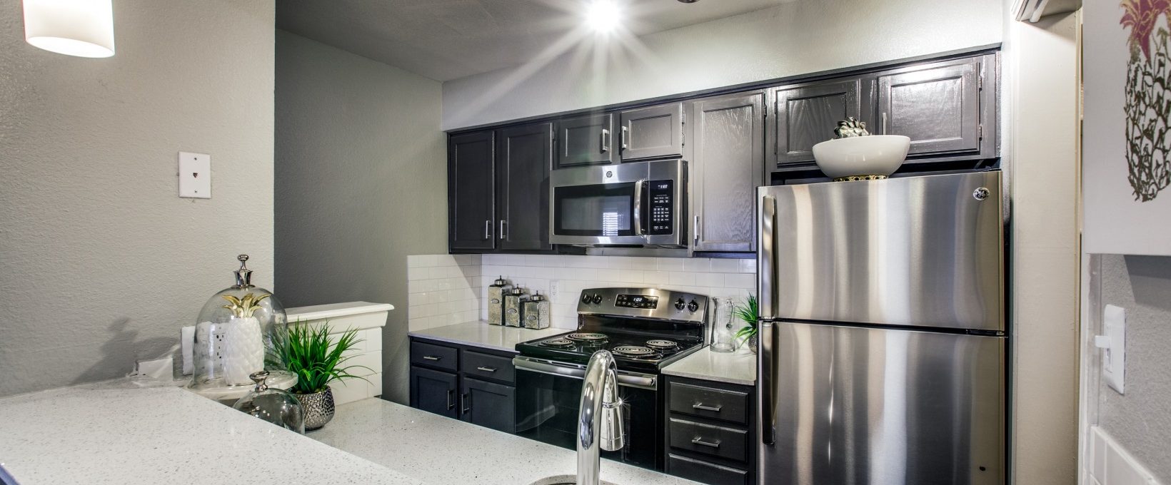
[{"label": "left dark cabinet door above refrigerator, partly behind white bowl", "polygon": [[[773,90],[769,136],[776,165],[813,161],[813,146],[834,138],[837,122],[862,112],[862,79],[830,79]],[[869,120],[862,119],[863,122]]]}]

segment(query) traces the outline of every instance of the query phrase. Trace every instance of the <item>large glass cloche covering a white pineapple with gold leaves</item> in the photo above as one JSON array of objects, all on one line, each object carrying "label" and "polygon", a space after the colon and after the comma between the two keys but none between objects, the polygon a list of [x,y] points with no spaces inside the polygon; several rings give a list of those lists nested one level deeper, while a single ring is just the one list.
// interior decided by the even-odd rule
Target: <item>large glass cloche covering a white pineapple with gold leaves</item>
[{"label": "large glass cloche covering a white pineapple with gold leaves", "polygon": [[252,384],[252,373],[265,369],[265,341],[286,325],[280,300],[252,284],[248,255],[237,259],[235,284],[212,296],[196,320],[196,389]]}]

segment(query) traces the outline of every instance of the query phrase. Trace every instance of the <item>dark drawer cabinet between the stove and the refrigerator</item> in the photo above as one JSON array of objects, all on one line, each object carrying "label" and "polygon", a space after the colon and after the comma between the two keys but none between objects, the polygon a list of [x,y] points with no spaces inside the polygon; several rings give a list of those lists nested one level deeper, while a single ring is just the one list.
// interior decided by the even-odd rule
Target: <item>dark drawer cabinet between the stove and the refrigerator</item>
[{"label": "dark drawer cabinet between the stove and the refrigerator", "polygon": [[666,472],[711,485],[755,484],[754,389],[665,377]]}]

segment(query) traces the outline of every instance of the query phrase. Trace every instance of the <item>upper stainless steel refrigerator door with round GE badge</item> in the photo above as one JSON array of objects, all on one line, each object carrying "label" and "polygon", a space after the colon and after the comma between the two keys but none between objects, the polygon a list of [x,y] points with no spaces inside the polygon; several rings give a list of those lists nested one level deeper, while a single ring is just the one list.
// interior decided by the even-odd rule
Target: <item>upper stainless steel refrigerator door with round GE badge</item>
[{"label": "upper stainless steel refrigerator door with round GE badge", "polygon": [[1000,172],[761,187],[761,314],[1004,331],[1000,193]]}]

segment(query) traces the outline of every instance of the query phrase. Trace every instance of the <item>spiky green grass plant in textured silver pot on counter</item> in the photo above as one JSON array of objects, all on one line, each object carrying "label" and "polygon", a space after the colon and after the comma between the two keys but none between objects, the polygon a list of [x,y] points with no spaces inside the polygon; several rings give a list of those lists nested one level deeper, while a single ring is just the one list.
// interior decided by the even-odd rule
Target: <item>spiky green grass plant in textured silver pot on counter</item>
[{"label": "spiky green grass plant in textured silver pot on counter", "polygon": [[[304,407],[304,429],[315,430],[334,418],[334,392],[329,383],[338,379],[362,379],[351,369],[365,366],[343,366],[347,351],[362,341],[356,330],[348,330],[334,341],[329,323],[316,328],[301,321],[273,330],[267,352],[267,365],[296,374],[296,386],[289,389]],[[369,381],[367,381],[369,382]]]}]

